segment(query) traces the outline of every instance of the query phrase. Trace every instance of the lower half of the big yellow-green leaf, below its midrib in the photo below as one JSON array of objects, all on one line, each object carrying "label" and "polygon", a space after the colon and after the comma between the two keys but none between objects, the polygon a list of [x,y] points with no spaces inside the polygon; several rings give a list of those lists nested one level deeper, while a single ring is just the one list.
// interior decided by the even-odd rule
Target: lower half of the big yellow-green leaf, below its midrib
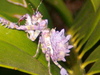
[{"label": "lower half of the big yellow-green leaf, below its midrib", "polygon": [[34,75],[48,75],[48,69],[18,47],[0,40],[0,66]]}]

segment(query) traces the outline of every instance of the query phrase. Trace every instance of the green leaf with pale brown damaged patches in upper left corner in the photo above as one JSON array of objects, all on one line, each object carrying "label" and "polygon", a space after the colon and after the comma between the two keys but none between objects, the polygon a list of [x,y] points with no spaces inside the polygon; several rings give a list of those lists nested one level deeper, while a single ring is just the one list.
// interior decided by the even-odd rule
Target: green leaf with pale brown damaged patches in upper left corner
[{"label": "green leaf with pale brown damaged patches in upper left corner", "polygon": [[27,12],[28,10],[24,7],[12,4],[7,0],[0,0],[0,14],[10,21],[17,22],[18,18]]}]

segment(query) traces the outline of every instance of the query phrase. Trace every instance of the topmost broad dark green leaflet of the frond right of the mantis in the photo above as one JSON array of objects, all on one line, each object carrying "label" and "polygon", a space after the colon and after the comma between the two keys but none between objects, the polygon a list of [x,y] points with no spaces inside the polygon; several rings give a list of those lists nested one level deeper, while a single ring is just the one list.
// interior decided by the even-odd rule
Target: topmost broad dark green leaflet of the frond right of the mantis
[{"label": "topmost broad dark green leaflet of the frond right of the mantis", "polygon": [[[100,2],[98,2],[98,3],[100,3]],[[82,10],[78,13],[78,15],[73,23],[74,25],[71,27],[69,32],[74,36],[77,33],[77,31],[80,28],[82,28],[82,26],[84,26],[86,24],[86,22],[88,22],[88,20],[90,20],[90,17],[92,17],[94,14],[95,14],[95,11],[94,11],[93,4],[91,3],[90,0],[88,0],[84,4]],[[75,31],[73,31],[73,30],[75,30]],[[75,41],[75,39],[73,41]]]}]

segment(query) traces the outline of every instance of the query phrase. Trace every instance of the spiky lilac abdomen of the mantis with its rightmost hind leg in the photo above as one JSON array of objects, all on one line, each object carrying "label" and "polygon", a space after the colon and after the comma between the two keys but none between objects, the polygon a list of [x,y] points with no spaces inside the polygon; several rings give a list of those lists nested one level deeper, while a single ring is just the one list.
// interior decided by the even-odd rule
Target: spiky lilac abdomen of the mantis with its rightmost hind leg
[{"label": "spiky lilac abdomen of the mantis with its rightmost hind leg", "polygon": [[51,46],[53,48],[53,55],[51,55],[52,61],[60,68],[61,75],[68,75],[67,71],[58,63],[58,61],[65,62],[66,56],[69,56],[70,49],[73,47],[69,45],[69,40],[71,35],[65,36],[65,31],[56,31],[55,29],[51,30]]}]

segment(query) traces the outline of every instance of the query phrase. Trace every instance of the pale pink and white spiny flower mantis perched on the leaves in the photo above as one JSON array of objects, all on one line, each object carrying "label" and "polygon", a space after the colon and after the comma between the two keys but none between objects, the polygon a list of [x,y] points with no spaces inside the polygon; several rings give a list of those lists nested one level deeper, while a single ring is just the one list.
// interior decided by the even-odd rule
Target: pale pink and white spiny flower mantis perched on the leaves
[{"label": "pale pink and white spiny flower mantis perched on the leaves", "polygon": [[42,52],[45,54],[46,60],[48,61],[49,74],[52,75],[50,71],[50,59],[52,59],[54,64],[60,68],[60,74],[68,75],[67,71],[58,63],[58,61],[65,62],[65,56],[69,56],[69,49],[73,47],[72,45],[69,45],[68,42],[71,35],[65,36],[64,29],[60,32],[56,31],[55,28],[49,29],[47,27],[48,20],[42,19],[42,17],[41,13],[37,11],[32,17],[30,17],[29,14],[25,14],[19,19],[18,22],[26,20],[25,25],[18,26],[3,18],[0,18],[0,23],[7,28],[24,30],[31,41],[35,41],[39,36],[37,51],[33,57],[37,56],[41,46]]}]

